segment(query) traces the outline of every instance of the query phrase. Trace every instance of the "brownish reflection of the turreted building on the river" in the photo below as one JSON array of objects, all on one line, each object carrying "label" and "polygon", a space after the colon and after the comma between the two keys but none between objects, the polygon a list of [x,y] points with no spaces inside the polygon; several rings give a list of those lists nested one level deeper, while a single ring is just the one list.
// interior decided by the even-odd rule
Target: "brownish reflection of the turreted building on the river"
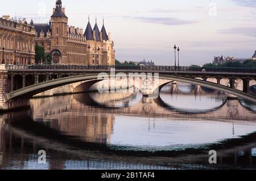
[{"label": "brownish reflection of the turreted building on the river", "polygon": [[[111,139],[114,116],[86,110],[72,96],[32,99],[34,120],[51,121],[51,127],[88,142],[106,143]],[[75,112],[73,110],[76,110]],[[78,113],[79,112],[79,113]]]}]

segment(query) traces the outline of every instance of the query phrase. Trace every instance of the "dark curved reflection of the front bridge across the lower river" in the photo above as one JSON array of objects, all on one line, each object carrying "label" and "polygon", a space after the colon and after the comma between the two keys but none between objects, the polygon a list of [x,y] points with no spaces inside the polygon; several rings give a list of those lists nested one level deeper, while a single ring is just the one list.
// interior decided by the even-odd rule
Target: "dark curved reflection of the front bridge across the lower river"
[{"label": "dark curved reflection of the front bridge across the lower river", "polygon": [[[98,150],[97,145],[88,146],[85,141],[74,140],[74,135],[56,132],[56,129],[37,123],[26,117],[28,112],[13,112],[0,119],[0,168],[17,169],[37,163],[37,151],[46,149],[49,169],[214,169],[214,167],[255,167],[256,134],[250,134],[220,145],[191,151],[170,151],[148,154],[118,152],[112,154]],[[23,120],[16,118],[25,117]],[[24,123],[25,122],[25,123]],[[97,127],[98,125],[94,125]],[[101,125],[99,125],[101,126]],[[31,129],[33,128],[33,129]],[[92,150],[90,150],[92,148]],[[95,150],[94,150],[94,149]],[[218,165],[208,164],[208,149],[218,151]],[[14,153],[15,150],[15,153]],[[63,154],[65,157],[63,157]],[[155,154],[155,155],[154,155]],[[185,154],[185,155],[184,155]],[[60,156],[61,155],[61,156]],[[154,155],[154,157],[153,157]],[[174,157],[175,156],[175,157]]]}]

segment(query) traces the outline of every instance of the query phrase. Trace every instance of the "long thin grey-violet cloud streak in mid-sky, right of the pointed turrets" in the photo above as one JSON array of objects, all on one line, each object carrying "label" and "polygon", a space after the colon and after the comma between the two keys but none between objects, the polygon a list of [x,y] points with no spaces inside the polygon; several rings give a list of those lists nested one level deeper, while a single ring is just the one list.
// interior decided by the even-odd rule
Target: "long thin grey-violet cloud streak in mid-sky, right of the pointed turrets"
[{"label": "long thin grey-violet cloud streak in mid-sky, right of the pointed turrets", "polygon": [[177,18],[148,18],[148,17],[128,17],[125,16],[125,18],[132,18],[137,19],[144,23],[154,23],[154,24],[164,24],[167,26],[177,26],[177,25],[184,25],[184,24],[192,24],[197,23],[196,21],[192,20],[181,20]]}]

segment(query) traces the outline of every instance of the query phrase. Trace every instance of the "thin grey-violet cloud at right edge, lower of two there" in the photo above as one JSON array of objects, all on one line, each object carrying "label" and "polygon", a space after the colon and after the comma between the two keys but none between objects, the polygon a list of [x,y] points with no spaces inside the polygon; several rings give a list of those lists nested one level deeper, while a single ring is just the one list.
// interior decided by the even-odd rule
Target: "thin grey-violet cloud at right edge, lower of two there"
[{"label": "thin grey-violet cloud at right edge, lower of two there", "polygon": [[228,30],[219,30],[218,33],[238,34],[238,35],[256,37],[256,27],[230,28]]}]

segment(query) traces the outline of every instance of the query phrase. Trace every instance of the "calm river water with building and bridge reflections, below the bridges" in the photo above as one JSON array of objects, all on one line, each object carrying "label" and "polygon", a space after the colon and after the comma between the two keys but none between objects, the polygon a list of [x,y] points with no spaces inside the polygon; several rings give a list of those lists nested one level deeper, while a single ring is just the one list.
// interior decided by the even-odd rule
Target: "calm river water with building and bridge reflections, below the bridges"
[{"label": "calm river water with building and bridge reflections, below the bridges", "polygon": [[[256,104],[184,83],[157,99],[31,99],[0,119],[0,169],[256,169]],[[46,163],[39,163],[39,150]],[[209,164],[209,151],[217,164]]]}]

